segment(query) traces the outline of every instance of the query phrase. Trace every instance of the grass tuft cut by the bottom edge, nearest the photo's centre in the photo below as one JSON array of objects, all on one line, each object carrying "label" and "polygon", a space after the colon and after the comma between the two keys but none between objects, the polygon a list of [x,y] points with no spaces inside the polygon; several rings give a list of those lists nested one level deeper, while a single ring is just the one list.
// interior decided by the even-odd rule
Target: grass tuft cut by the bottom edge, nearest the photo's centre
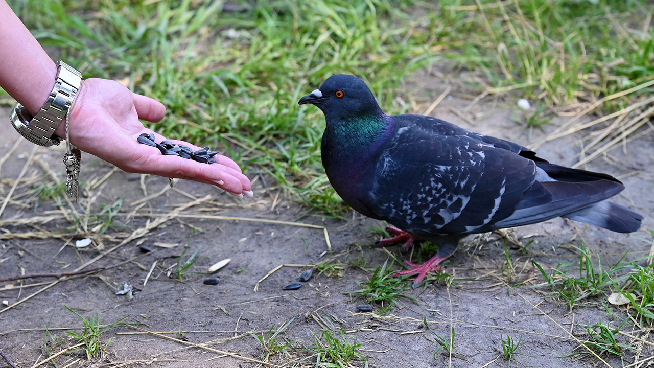
[{"label": "grass tuft cut by the bottom edge, nearest the photo's centre", "polygon": [[[313,335],[314,346],[308,350],[314,352],[316,361],[315,365],[313,362],[311,365],[317,368],[349,368],[354,367],[353,364],[362,363],[368,367],[368,357],[359,352],[361,344],[356,342],[356,337],[354,337],[353,342],[349,342],[343,329],[339,328],[339,331],[340,339],[339,336],[328,329],[322,330],[322,340],[318,339],[315,334]],[[311,357],[308,359],[311,359]]]}]

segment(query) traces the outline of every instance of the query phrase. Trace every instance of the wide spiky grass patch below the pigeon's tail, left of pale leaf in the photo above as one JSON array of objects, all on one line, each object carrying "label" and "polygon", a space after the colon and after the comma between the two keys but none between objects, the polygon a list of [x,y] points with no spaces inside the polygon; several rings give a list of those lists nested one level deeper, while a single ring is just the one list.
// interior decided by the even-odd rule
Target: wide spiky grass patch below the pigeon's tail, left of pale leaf
[{"label": "wide spiky grass patch below the pigeon's tail, left of pale leaf", "polygon": [[[583,242],[579,248],[575,248],[579,251],[579,261],[559,263],[549,276],[536,261],[532,261],[545,278],[545,284],[533,287],[549,286],[551,292],[548,295],[564,301],[570,310],[575,306],[591,303],[587,299],[602,295],[614,285],[614,282],[624,280],[627,276],[620,276],[617,273],[632,267],[632,263],[623,262],[627,253],[613,267],[604,270],[599,258],[594,265],[591,251]],[[570,269],[570,267],[574,268]],[[571,274],[574,269],[578,270],[578,277]]]}]

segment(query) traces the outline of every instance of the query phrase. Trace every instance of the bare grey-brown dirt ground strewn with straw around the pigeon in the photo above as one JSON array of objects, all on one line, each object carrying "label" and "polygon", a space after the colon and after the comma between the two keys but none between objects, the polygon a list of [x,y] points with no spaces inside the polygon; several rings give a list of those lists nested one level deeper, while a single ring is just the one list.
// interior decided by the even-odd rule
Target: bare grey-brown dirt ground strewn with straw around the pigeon
[{"label": "bare grey-brown dirt ground strewn with straw around the pigeon", "polygon": [[[417,109],[424,111],[445,86],[425,83],[415,89],[424,94],[426,102]],[[307,87],[307,92],[309,90]],[[409,88],[409,92],[411,90]],[[466,96],[455,92],[453,89],[430,115],[484,134],[525,145],[529,143],[527,132],[514,121],[521,113],[513,103],[480,101],[466,115],[475,123],[472,126],[453,113],[453,110],[463,111],[470,103]],[[4,109],[0,115],[8,113]],[[560,117],[544,131],[534,130],[532,141],[542,139],[567,119]],[[592,358],[568,356],[580,351],[575,350],[578,343],[572,335],[585,338],[577,324],[611,321],[604,306],[579,307],[569,312],[560,302],[543,299],[542,294],[548,289],[530,287],[543,282],[531,259],[546,270],[559,263],[578,261],[579,255],[573,246],[579,246],[583,239],[606,267],[627,251],[628,259],[646,255],[649,244],[637,238],[649,239],[645,230],[654,229],[651,196],[654,145],[650,133],[630,141],[626,150],[623,147],[613,149],[610,155],[597,158],[587,166],[589,170],[619,177],[625,183],[627,189],[615,202],[645,215],[644,226],[639,232],[616,234],[560,218],[520,227],[515,229],[517,238],[523,243],[534,242],[527,253],[509,247],[515,268],[513,274],[506,271],[504,245],[498,241],[498,234],[492,235],[489,242],[475,246],[470,245],[472,237],[469,237],[467,245],[455,253],[446,270],[455,275],[452,287],[438,282],[409,289],[405,294],[415,298],[415,303],[400,299],[404,305],[392,306],[385,314],[375,313],[379,312],[379,305],[375,305],[372,313],[362,313],[356,306],[364,301],[354,300],[354,295],[345,292],[358,289],[356,282],[365,282],[372,272],[353,268],[351,263],[363,259],[365,267],[374,270],[390,259],[385,249],[371,247],[379,238],[375,229],[385,224],[358,214],[352,214],[348,221],[325,219],[315,214],[303,217],[307,208],[284,198],[284,194],[273,187],[274,183],[264,187],[260,179],[254,185],[254,198],[243,200],[191,181],[179,181],[174,189],[166,190],[165,178],[115,171],[110,164],[89,155],[83,155],[80,181],[95,183],[97,187],[86,193],[90,197],[83,198],[80,206],[65,204],[65,213],[52,201],[38,206],[32,201],[26,205],[24,200],[29,198],[28,193],[44,182],[44,175],[48,181],[52,180],[48,175],[59,180],[63,177],[63,147],[39,147],[33,151],[34,145],[20,141],[12,151],[19,137],[8,125],[5,132],[7,137],[0,144],[0,157],[8,155],[0,169],[3,198],[10,193],[21,172],[24,174],[0,217],[0,278],[71,272],[98,255],[104,256],[86,269],[111,267],[81,276],[65,276],[58,282],[56,278],[39,277],[0,283],[0,299],[9,305],[0,309],[0,348],[20,367],[42,362],[47,358],[48,349],[50,354],[56,354],[71,346],[71,342],[61,342],[52,347],[48,342],[52,339],[44,329],[48,327],[49,333],[56,338],[65,337],[65,331],[80,331],[82,320],[65,306],[88,320],[100,316],[102,323],[112,323],[127,316],[125,322],[141,324],[120,325],[103,334],[103,342],[113,339],[103,358],[88,361],[80,352],[64,352],[52,360],[56,367],[140,364],[255,367],[260,364],[256,361],[266,354],[262,344],[250,334],[266,335],[273,325],[277,329],[286,322],[290,325],[279,341],[298,341],[288,350],[298,361],[301,355],[310,354],[301,350],[304,346],[315,346],[315,337],[320,340],[322,329],[333,329],[340,337],[337,332],[340,328],[350,342],[356,339],[361,344],[360,352],[369,357],[368,363],[378,367],[508,367],[518,364],[582,367],[593,362],[604,366]],[[553,162],[572,164],[579,153],[580,137],[570,135],[549,141],[538,152]],[[27,164],[33,152],[34,160]],[[109,176],[105,178],[106,175]],[[145,197],[150,199],[142,201]],[[101,204],[113,204],[121,199],[122,210],[114,217],[112,227],[101,234],[101,223],[90,221],[84,213],[97,214],[103,209]],[[74,229],[76,218],[80,221],[80,229],[89,221],[88,232],[69,232]],[[295,224],[265,222],[269,220]],[[300,223],[316,226],[305,227]],[[329,234],[331,249],[322,227]],[[122,244],[130,236],[134,239]],[[94,240],[92,245],[75,248],[75,240],[87,237]],[[177,246],[162,247],[173,244]],[[118,248],[108,252],[116,246]],[[139,246],[153,251],[142,253]],[[184,282],[180,282],[174,278],[174,270],[184,246],[189,249],[183,259],[199,247],[201,250],[199,260],[185,271]],[[388,251],[401,260],[409,257],[400,254],[399,247],[388,248]],[[215,275],[207,274],[210,265],[227,258],[232,259],[231,263]],[[307,269],[298,265],[324,260],[343,263],[343,277],[328,277],[315,271],[313,278],[300,289],[282,289]],[[258,283],[280,265],[290,266],[279,268]],[[400,266],[396,263],[394,268],[400,269]],[[167,270],[173,270],[173,278],[167,277]],[[203,284],[203,280],[215,276],[220,278],[220,284]],[[509,287],[515,282],[523,284]],[[131,301],[125,295],[116,295],[124,283],[133,285],[137,291]],[[7,287],[9,284],[13,287]],[[32,286],[22,287],[24,285]],[[30,295],[34,296],[26,300]],[[20,301],[23,302],[14,304]],[[616,317],[626,316],[621,308],[609,308]],[[423,325],[425,317],[427,327]],[[617,319],[611,323],[617,323]],[[449,356],[442,350],[434,354],[439,348],[434,341],[435,333],[447,335],[452,327],[455,354]],[[632,329],[625,327],[623,331]],[[507,335],[515,340],[522,339],[517,352],[526,355],[517,356],[519,363],[501,357],[502,337]],[[626,338],[621,342],[629,343]],[[645,346],[640,359],[651,355],[651,350]],[[612,367],[633,361],[633,354],[628,352],[624,361],[606,360]],[[315,358],[313,363],[293,363],[283,354],[271,356],[268,362],[283,367],[316,366]],[[362,363],[357,365],[363,366]],[[0,367],[8,366],[0,359]]]}]

